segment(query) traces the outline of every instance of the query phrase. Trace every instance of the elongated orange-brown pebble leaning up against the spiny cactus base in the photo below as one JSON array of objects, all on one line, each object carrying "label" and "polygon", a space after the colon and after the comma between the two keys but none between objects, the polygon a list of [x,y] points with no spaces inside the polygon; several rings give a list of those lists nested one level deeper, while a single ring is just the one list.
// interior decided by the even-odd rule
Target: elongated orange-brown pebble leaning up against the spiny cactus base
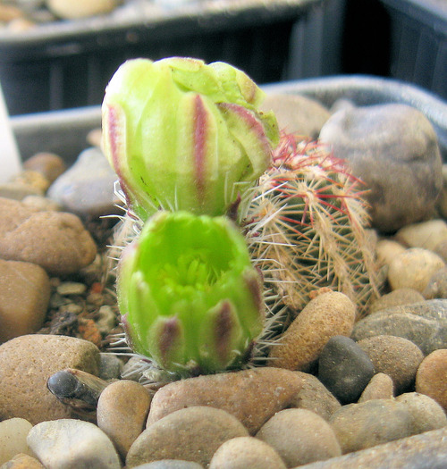
[{"label": "elongated orange-brown pebble leaning up against the spiny cactus base", "polygon": [[328,291],[309,301],[271,348],[269,364],[307,372],[333,336],[350,336],[356,306],[338,291]]}]

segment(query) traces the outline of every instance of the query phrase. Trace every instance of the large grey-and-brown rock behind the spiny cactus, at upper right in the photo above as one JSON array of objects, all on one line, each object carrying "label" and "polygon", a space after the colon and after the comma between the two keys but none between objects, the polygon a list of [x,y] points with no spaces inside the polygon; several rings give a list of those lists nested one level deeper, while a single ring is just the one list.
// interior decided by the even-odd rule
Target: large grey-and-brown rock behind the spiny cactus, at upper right
[{"label": "large grey-and-brown rock behind the spiny cactus, at upper right", "polygon": [[399,230],[433,213],[443,186],[442,159],[434,129],[417,109],[396,104],[344,109],[326,121],[320,139],[366,182],[378,230]]}]

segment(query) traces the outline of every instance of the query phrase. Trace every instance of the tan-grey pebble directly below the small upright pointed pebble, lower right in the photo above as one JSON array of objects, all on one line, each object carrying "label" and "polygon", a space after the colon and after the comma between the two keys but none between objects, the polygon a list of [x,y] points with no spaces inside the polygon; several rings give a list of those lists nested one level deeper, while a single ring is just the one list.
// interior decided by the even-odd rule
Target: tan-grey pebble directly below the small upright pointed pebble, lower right
[{"label": "tan-grey pebble directly below the small upright pointed pebble, lower right", "polygon": [[343,454],[408,437],[413,430],[413,417],[408,408],[393,399],[342,406],[329,423]]}]

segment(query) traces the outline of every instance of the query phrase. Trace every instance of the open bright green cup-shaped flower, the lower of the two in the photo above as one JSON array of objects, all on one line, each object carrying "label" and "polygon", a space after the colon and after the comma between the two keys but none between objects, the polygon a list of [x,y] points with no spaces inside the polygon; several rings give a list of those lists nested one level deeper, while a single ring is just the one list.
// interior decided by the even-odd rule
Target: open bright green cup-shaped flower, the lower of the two
[{"label": "open bright green cup-shaped flower, the lower of the two", "polygon": [[263,327],[261,284],[227,217],[158,212],[119,264],[130,347],[181,374],[237,364]]}]

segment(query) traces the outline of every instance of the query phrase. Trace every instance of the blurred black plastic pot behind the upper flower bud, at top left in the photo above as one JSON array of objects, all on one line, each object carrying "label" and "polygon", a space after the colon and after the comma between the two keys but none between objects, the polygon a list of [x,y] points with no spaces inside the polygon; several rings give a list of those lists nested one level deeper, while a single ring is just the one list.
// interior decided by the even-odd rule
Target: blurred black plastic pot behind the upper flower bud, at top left
[{"label": "blurred black plastic pot behind the upper flower bud, at top left", "polygon": [[0,29],[0,81],[11,115],[99,105],[127,59],[232,63],[257,83],[338,73],[345,0],[147,2],[138,14]]}]

